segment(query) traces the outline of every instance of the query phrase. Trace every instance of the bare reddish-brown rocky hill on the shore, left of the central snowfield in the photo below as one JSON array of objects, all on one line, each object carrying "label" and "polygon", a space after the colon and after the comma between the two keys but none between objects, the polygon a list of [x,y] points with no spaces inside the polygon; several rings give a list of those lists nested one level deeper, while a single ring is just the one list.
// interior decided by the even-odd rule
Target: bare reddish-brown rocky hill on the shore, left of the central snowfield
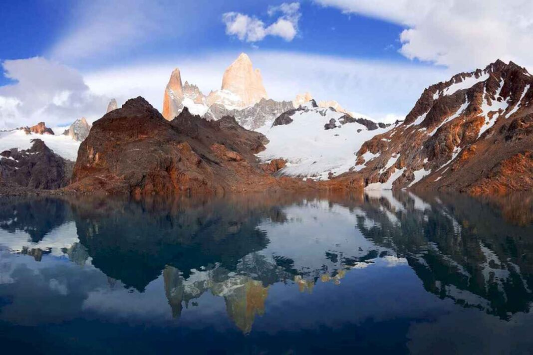
[{"label": "bare reddish-brown rocky hill on the shore, left of the central snowfield", "polygon": [[168,121],[138,97],[94,122],[68,188],[140,195],[310,186],[269,174],[270,164],[262,166],[254,155],[266,142],[233,117],[207,121],[183,109]]}]

